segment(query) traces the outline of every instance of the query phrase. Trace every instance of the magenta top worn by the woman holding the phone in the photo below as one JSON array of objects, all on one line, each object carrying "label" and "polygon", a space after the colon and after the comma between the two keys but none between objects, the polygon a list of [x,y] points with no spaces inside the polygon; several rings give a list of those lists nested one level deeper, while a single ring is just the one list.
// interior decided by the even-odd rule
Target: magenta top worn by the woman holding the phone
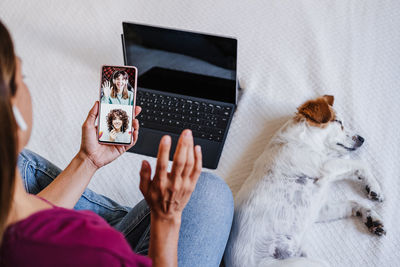
[{"label": "magenta top worn by the woman holding the phone", "polygon": [[151,266],[124,236],[91,211],[46,209],[10,225],[0,266]]}]

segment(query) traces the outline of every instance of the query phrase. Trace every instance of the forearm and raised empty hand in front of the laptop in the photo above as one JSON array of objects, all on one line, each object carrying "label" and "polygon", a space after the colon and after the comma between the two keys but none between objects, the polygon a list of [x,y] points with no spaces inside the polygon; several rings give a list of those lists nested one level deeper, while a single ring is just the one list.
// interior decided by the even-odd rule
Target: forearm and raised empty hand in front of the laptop
[{"label": "forearm and raised empty hand in front of the laptop", "polygon": [[182,211],[201,173],[200,146],[193,147],[190,130],[179,138],[171,172],[167,172],[171,138],[161,139],[157,167],[151,179],[147,161],[140,171],[140,190],[151,209],[149,257],[153,266],[178,266],[178,240]]}]

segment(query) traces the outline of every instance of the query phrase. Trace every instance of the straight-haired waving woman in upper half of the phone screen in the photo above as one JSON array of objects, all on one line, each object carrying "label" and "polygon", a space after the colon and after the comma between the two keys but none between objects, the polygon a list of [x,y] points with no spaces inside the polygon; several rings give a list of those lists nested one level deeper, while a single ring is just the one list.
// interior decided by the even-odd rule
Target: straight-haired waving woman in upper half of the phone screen
[{"label": "straight-haired waving woman in upper half of the phone screen", "polygon": [[134,94],[128,90],[129,76],[123,70],[115,71],[109,81],[103,83],[102,103],[133,105]]}]

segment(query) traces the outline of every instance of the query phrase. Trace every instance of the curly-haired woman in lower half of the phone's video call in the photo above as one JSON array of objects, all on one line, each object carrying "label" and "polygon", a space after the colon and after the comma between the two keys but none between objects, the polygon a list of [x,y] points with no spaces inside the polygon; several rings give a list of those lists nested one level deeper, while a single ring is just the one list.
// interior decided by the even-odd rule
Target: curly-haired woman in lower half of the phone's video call
[{"label": "curly-haired woman in lower half of the phone's video call", "polygon": [[109,134],[105,134],[103,140],[119,143],[129,143],[129,117],[125,110],[113,109],[107,115],[107,127]]}]

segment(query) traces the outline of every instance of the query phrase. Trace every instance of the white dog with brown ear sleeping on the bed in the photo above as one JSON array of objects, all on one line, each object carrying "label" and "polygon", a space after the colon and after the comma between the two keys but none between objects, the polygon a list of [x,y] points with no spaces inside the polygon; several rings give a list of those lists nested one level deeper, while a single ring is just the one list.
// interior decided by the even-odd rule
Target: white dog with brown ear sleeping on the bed
[{"label": "white dog with brown ear sleeping on the bed", "polygon": [[333,102],[333,96],[324,95],[301,105],[256,160],[235,199],[227,267],[327,266],[306,258],[301,248],[317,221],[358,216],[371,233],[386,234],[368,206],[326,201],[329,185],[342,179],[360,181],[368,198],[383,201],[366,164],[348,157],[364,138],[345,130]]}]

